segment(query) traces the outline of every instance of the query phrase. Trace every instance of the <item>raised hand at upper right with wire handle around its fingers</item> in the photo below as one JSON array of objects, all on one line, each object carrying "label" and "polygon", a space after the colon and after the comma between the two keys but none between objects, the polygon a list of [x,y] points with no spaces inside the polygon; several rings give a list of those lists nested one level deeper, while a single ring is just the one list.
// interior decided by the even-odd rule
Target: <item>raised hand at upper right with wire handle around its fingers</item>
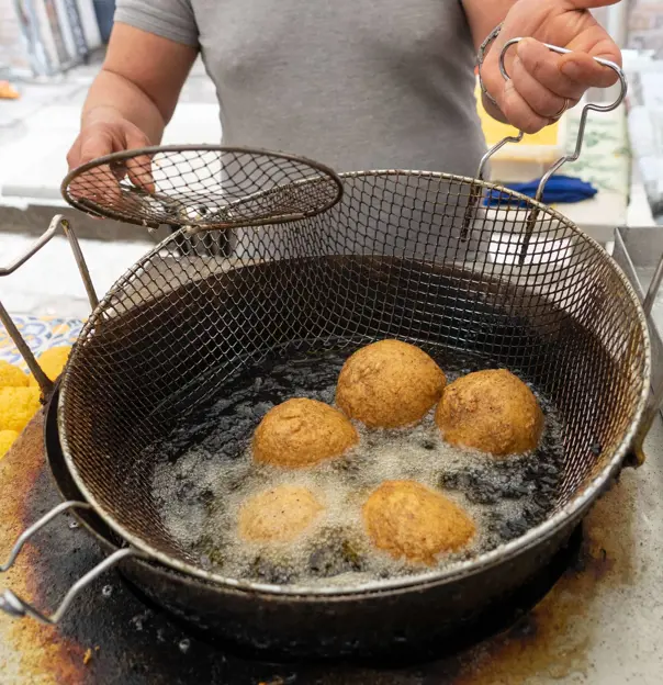
[{"label": "raised hand at upper right with wire handle around its fingers", "polygon": [[[577,104],[588,88],[616,82],[615,71],[594,57],[621,65],[621,53],[589,9],[617,1],[518,0],[512,7],[481,68],[483,83],[508,123],[536,133]],[[506,55],[510,79],[505,80],[499,54],[507,41],[520,36],[525,40]],[[542,43],[572,52],[559,55]]]}]

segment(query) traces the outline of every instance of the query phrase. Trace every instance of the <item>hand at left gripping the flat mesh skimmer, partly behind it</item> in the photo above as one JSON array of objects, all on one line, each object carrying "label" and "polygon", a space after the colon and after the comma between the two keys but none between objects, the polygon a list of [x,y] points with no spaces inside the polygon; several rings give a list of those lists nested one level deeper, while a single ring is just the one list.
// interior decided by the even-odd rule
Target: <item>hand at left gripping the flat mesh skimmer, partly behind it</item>
[{"label": "hand at left gripping the flat mesh skimmer, partly behind it", "polygon": [[[80,133],[67,154],[69,170],[112,153],[148,147],[147,135],[112,109],[93,110],[83,120]],[[101,165],[82,172],[71,182],[69,192],[77,199],[114,204],[121,198],[120,181],[128,176],[132,183],[154,192],[151,162],[139,155],[125,162]]]}]

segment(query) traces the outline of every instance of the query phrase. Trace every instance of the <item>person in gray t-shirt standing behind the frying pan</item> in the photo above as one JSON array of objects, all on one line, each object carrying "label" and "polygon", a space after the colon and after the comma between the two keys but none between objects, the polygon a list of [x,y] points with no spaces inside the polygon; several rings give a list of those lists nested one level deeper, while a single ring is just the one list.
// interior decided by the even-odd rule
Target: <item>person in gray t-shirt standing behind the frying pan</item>
[{"label": "person in gray t-shirt standing behind the frying pan", "polygon": [[[225,145],[301,154],[338,171],[474,176],[485,143],[475,53],[491,113],[533,133],[614,71],[620,52],[591,11],[616,0],[119,0],[70,168],[160,142],[200,54]],[[506,81],[498,69],[505,42]],[[566,55],[542,45],[566,47]],[[216,143],[216,142],[214,142]]]}]

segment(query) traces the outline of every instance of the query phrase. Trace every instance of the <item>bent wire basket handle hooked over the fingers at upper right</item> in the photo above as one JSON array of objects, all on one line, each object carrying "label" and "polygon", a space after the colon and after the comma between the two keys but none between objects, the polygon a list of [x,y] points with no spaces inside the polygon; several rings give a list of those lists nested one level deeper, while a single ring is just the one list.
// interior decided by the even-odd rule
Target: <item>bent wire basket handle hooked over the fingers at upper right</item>
[{"label": "bent wire basket handle hooked over the fingers at upper right", "polygon": [[[499,35],[501,31],[502,31],[502,24],[499,24],[498,26],[493,29],[493,31],[486,36],[484,42],[479,47],[479,52],[477,52],[477,56],[476,56],[476,64],[477,64],[477,67],[479,67],[479,83],[480,83],[480,87],[481,87],[481,92],[495,106],[498,106],[497,102],[495,101],[493,96],[491,96],[491,93],[486,90],[486,87],[485,87],[485,85],[483,82],[483,79],[482,79],[482,76],[481,76],[481,67],[482,67],[482,65],[484,63],[485,53],[486,53],[488,46]],[[520,43],[524,40],[525,40],[524,37],[510,38],[509,41],[507,41],[504,44],[504,47],[502,48],[502,52],[499,53],[499,63],[498,63],[499,64],[499,72],[502,74],[504,80],[506,80],[506,81],[508,81],[509,78],[510,78],[508,72],[507,72],[507,70],[506,70],[506,66],[505,66],[506,54],[507,54],[507,52],[509,50],[510,47],[513,47],[514,45],[517,45],[518,43]],[[550,45],[548,43],[543,43],[543,45],[549,50],[551,50],[553,53],[557,53],[558,55],[568,55],[569,53],[573,52],[573,50],[570,50],[570,49],[568,49],[565,47],[559,47],[558,45]],[[589,112],[591,111],[594,111],[594,112],[611,112],[613,110],[616,110],[623,102],[623,99],[626,98],[628,85],[627,85],[626,76],[625,76],[623,71],[621,70],[621,68],[619,67],[619,65],[615,64],[614,61],[610,61],[609,59],[603,59],[602,57],[594,57],[594,60],[597,61],[599,65],[603,65],[604,67],[607,67],[609,69],[613,69],[613,71],[615,71],[615,74],[617,75],[617,77],[619,79],[619,85],[620,85],[619,96],[617,97],[617,99],[614,102],[611,102],[609,104],[596,104],[596,103],[593,103],[593,102],[588,102],[588,103],[586,103],[583,106],[582,112],[581,112],[581,117],[580,117],[580,124],[578,124],[578,128],[577,128],[577,138],[576,138],[576,142],[575,142],[575,149],[573,150],[572,154],[564,155],[563,157],[558,159],[552,165],[552,167],[550,167],[550,169],[548,169],[548,171],[541,177],[541,180],[539,181],[539,186],[537,188],[537,192],[536,192],[536,195],[535,195],[535,201],[537,203],[541,202],[541,199],[543,196],[543,191],[546,189],[546,183],[548,183],[548,181],[550,180],[550,177],[553,176],[568,161],[575,161],[580,157],[581,150],[582,150],[582,146],[583,146],[583,139],[584,139],[584,136],[585,136],[585,126],[587,124],[587,115],[589,114]],[[508,137],[499,141],[499,143],[497,143],[493,147],[491,147],[491,149],[488,149],[488,151],[482,157],[482,159],[481,159],[481,161],[479,164],[479,170],[476,172],[477,178],[480,180],[483,180],[484,173],[485,173],[486,164],[487,164],[488,159],[498,149],[501,149],[507,143],[519,143],[522,139],[522,136],[524,136],[524,132],[520,131],[517,136],[508,136]],[[525,257],[527,256],[527,249],[529,247],[529,243],[531,240],[531,236],[532,236],[536,223],[537,223],[537,218],[539,216],[539,211],[540,211],[540,207],[537,206],[537,205],[533,205],[530,209],[529,214],[527,216],[526,228],[525,228],[525,236],[524,236],[522,247],[521,247],[520,257],[519,257],[520,266],[522,266],[522,263],[525,262]]]}]

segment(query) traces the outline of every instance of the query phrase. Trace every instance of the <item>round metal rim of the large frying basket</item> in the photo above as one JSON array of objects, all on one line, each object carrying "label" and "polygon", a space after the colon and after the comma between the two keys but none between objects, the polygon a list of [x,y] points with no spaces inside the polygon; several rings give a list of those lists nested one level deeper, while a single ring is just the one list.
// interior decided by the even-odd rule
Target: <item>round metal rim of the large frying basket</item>
[{"label": "round metal rim of the large frying basket", "polygon": [[[509,195],[522,199],[528,207],[537,206],[544,211],[549,216],[553,216],[559,218],[564,223],[565,227],[572,231],[577,236],[582,237],[587,244],[589,244],[597,252],[600,252],[603,258],[606,259],[607,263],[613,269],[614,273],[617,274],[621,284],[625,289],[626,294],[630,299],[631,303],[634,306],[634,311],[638,318],[638,324],[640,325],[641,333],[643,334],[643,383],[642,389],[640,391],[640,396],[638,398],[637,404],[634,405],[634,411],[631,414],[630,424],[628,429],[626,430],[619,446],[616,448],[615,453],[610,461],[600,470],[600,472],[585,486],[585,489],[573,497],[563,508],[557,512],[553,516],[546,519],[543,523],[530,528],[525,535],[505,543],[496,547],[493,550],[484,552],[474,559],[469,559],[465,561],[459,561],[452,563],[443,569],[436,569],[423,573],[413,573],[412,575],[401,576],[396,579],[387,579],[380,581],[370,581],[364,583],[359,583],[353,585],[351,588],[348,587],[325,587],[325,586],[306,586],[306,585],[276,585],[269,583],[256,583],[251,581],[243,581],[239,579],[227,577],[221,575],[218,573],[213,573],[200,569],[191,563],[187,563],[183,561],[179,561],[169,557],[168,554],[155,549],[150,544],[146,543],[141,537],[135,536],[126,530],[124,526],[115,520],[115,518],[106,514],[103,506],[95,499],[95,497],[91,494],[89,489],[86,486],[85,479],[81,478],[78,469],[76,468],[74,457],[71,454],[71,450],[67,440],[67,433],[64,427],[64,406],[67,402],[68,389],[69,389],[69,378],[68,372],[65,372],[65,378],[63,379],[63,384],[60,389],[60,395],[58,400],[57,407],[57,424],[58,424],[58,434],[60,436],[60,445],[63,448],[65,461],[67,463],[67,468],[71,473],[71,478],[74,479],[76,485],[79,491],[86,498],[86,501],[93,507],[94,512],[101,517],[101,519],[112,529],[114,530],[122,539],[124,539],[130,546],[134,547],[139,552],[146,554],[149,559],[155,560],[166,566],[169,566],[184,575],[191,575],[207,583],[211,583],[216,586],[225,587],[233,591],[244,591],[251,593],[259,593],[262,595],[270,595],[272,597],[278,596],[289,596],[289,597],[308,597],[308,598],[342,598],[342,597],[351,597],[358,594],[380,594],[384,592],[393,592],[401,589],[423,589],[426,586],[431,585],[442,585],[452,583],[457,580],[464,579],[476,573],[486,571],[495,565],[508,562],[516,557],[531,550],[533,547],[544,543],[551,537],[555,535],[561,528],[572,524],[573,521],[582,518],[591,506],[595,503],[597,497],[600,495],[602,491],[606,487],[607,483],[617,474],[620,470],[621,463],[626,458],[627,450],[629,449],[638,427],[642,420],[642,415],[644,408],[647,406],[647,401],[650,393],[650,383],[651,383],[651,341],[649,336],[649,328],[647,325],[647,317],[644,315],[644,311],[642,310],[642,305],[639,296],[637,295],[630,281],[623,273],[622,269],[615,261],[611,255],[607,254],[606,250],[589,235],[584,233],[578,226],[576,226],[573,222],[566,218],[563,214],[558,212],[557,210],[542,204],[540,202],[536,202],[530,198],[522,195],[521,193],[517,193],[510,191],[508,189],[504,189],[502,186],[497,183],[491,183],[486,181],[480,181],[477,179],[472,179],[462,176],[449,175],[443,172],[435,172],[435,171],[416,171],[416,170],[397,170],[397,169],[385,169],[385,170],[372,170],[372,171],[351,171],[346,173],[340,173],[339,177],[341,179],[349,178],[361,178],[361,177],[375,177],[375,176],[390,176],[398,178],[400,176],[420,176],[424,178],[437,179],[440,181],[451,181],[458,183],[474,183],[479,184],[483,188],[494,188],[502,189],[508,192]],[[153,250],[150,250],[147,255],[145,255],[141,261],[149,258],[153,255],[156,255],[162,246],[170,242],[171,237],[166,238],[162,243],[157,245]],[[135,266],[135,265],[133,265]],[[131,272],[127,271],[123,277],[121,277],[115,284],[109,290],[109,293],[115,292],[115,288],[119,283],[123,282],[126,276]],[[106,302],[108,294],[102,299],[100,303],[100,307]],[[90,321],[90,319],[89,319]],[[88,323],[89,325],[89,323]],[[81,330],[81,337],[87,332],[87,326]],[[72,357],[77,353],[77,349],[75,347],[72,351]]]}]

